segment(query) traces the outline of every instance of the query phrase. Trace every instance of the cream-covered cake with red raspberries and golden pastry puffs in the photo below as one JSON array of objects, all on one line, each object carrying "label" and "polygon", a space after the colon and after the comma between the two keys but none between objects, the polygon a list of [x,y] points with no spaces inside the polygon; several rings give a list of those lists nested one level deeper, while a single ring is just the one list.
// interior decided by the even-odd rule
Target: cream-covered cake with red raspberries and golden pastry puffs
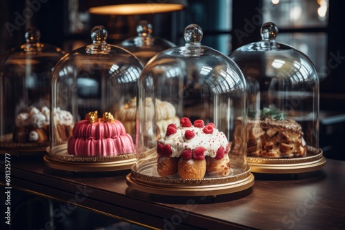
[{"label": "cream-covered cake with red raspberries and golden pastry puffs", "polygon": [[204,125],[201,119],[192,123],[183,117],[178,127],[168,125],[157,140],[157,171],[159,176],[178,174],[184,179],[228,176],[228,151],[228,139],[213,123]]}]

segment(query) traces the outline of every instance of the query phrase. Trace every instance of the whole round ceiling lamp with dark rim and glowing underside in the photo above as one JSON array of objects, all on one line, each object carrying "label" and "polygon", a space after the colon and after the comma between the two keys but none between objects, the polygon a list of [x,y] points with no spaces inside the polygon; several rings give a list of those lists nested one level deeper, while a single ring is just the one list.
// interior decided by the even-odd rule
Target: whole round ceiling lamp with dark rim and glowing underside
[{"label": "whole round ceiling lamp with dark rim and glowing underside", "polygon": [[157,14],[182,10],[187,6],[186,0],[144,0],[144,1],[88,1],[91,14]]}]

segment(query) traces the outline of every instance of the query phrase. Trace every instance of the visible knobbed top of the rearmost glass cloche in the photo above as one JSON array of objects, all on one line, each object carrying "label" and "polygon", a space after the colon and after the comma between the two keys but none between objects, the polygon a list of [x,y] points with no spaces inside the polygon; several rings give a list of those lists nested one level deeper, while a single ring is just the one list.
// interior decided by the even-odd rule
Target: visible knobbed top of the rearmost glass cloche
[{"label": "visible knobbed top of the rearmost glass cloche", "polygon": [[152,36],[152,25],[148,21],[140,21],[137,32],[138,36],[122,41],[119,46],[135,54],[144,65],[159,52],[176,46],[166,39]]}]

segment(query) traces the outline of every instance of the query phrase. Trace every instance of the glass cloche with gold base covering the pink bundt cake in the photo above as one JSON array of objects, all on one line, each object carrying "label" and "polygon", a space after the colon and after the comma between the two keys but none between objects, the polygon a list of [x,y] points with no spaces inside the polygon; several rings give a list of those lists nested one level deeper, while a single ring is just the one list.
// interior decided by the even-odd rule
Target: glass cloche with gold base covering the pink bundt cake
[{"label": "glass cloche with gold base covering the pink bundt cake", "polygon": [[129,105],[143,65],[106,43],[107,35],[101,25],[92,28],[92,44],[63,56],[52,72],[50,167],[112,171],[135,163],[136,109]]}]

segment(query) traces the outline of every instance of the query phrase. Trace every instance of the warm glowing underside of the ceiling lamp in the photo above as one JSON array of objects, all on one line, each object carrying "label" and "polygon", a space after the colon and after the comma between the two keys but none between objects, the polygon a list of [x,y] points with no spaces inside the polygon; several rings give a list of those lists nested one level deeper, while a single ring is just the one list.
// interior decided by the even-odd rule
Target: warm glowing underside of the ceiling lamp
[{"label": "warm glowing underside of the ceiling lamp", "polygon": [[181,4],[170,3],[137,3],[137,4],[119,4],[112,6],[98,6],[89,9],[91,14],[157,14],[161,12],[170,12],[182,10]]}]

